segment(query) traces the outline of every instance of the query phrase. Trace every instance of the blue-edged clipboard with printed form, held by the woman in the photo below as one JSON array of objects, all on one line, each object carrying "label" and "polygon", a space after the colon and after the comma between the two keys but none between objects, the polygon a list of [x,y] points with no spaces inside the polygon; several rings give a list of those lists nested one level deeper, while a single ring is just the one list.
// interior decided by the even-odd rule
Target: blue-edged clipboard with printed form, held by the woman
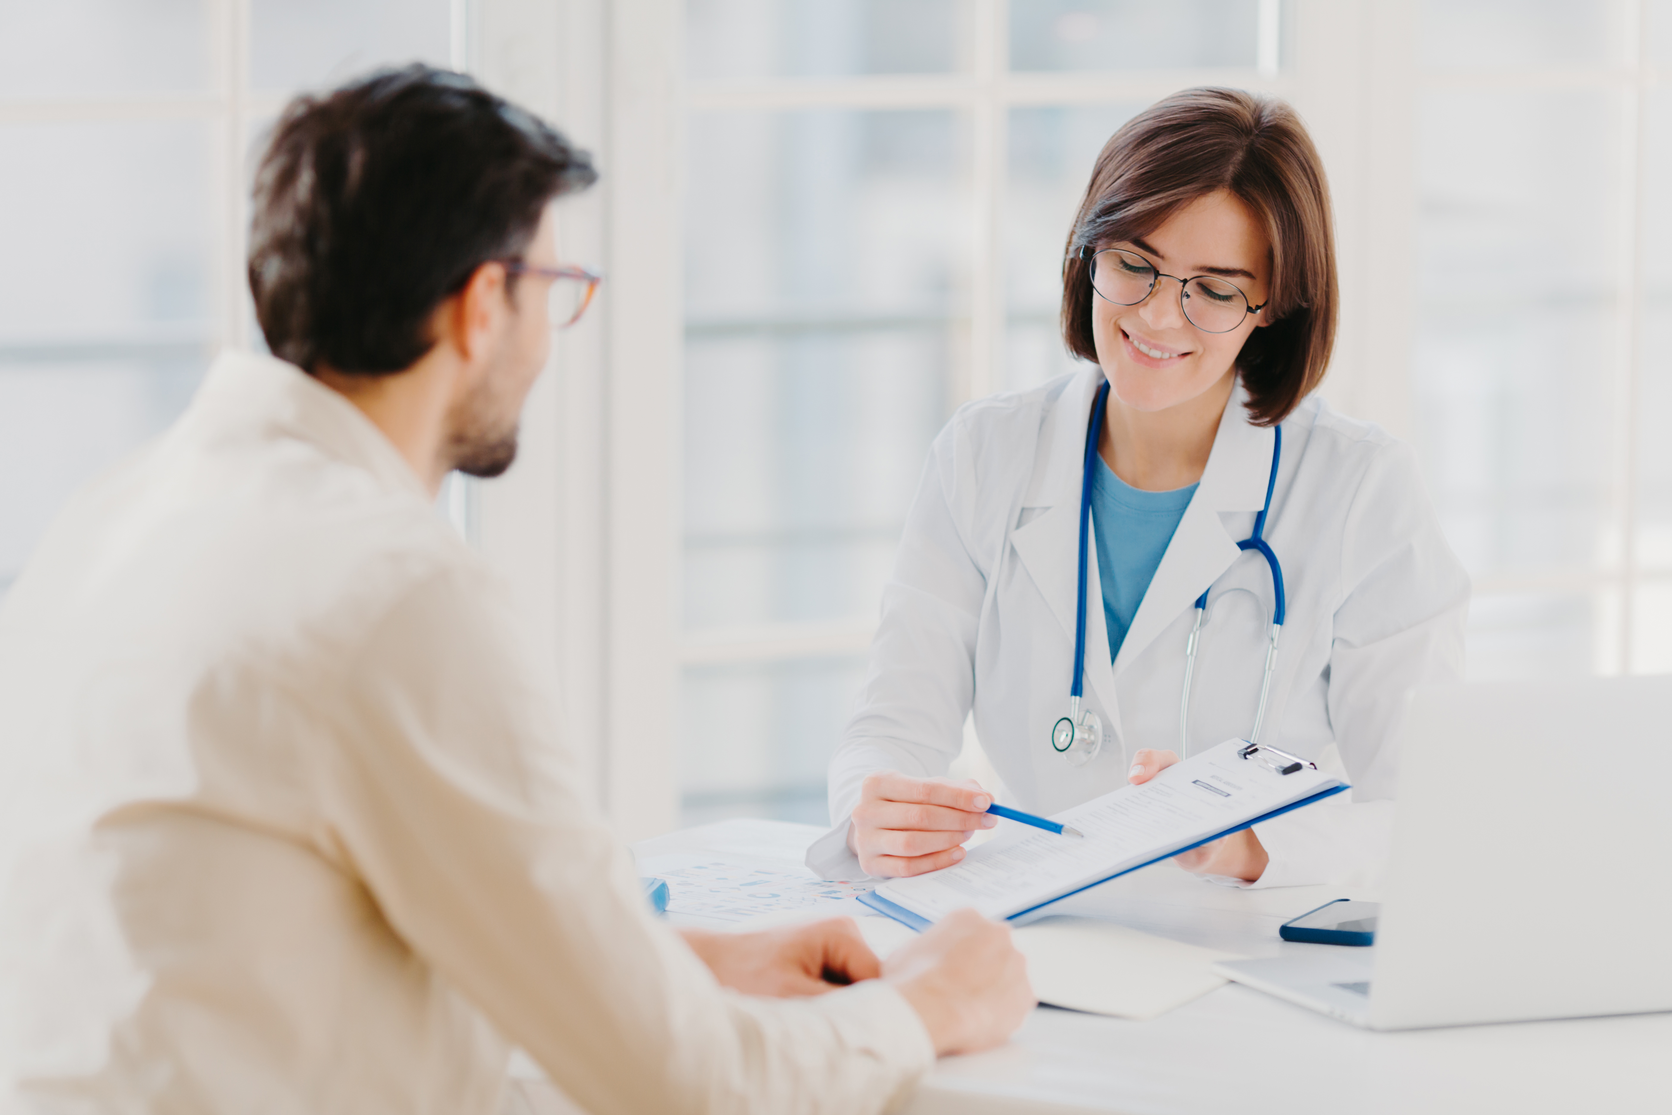
[{"label": "blue-edged clipboard with printed form, held by the woman", "polygon": [[891,879],[859,901],[915,929],[968,906],[988,918],[1020,919],[1344,789],[1346,782],[1304,759],[1231,739],[1144,786],[1122,786],[1050,817],[1080,829],[1085,839],[1018,826],[973,848],[955,868]]}]

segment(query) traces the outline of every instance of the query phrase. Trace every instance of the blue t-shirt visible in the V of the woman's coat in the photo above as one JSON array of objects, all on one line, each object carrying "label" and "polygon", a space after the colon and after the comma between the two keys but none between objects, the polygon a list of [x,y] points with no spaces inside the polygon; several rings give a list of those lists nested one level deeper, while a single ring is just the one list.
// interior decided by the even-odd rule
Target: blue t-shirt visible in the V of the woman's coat
[{"label": "blue t-shirt visible in the V of the woman's coat", "polygon": [[1120,654],[1132,617],[1149,590],[1172,532],[1190,505],[1195,485],[1172,491],[1142,491],[1117,476],[1102,455],[1092,473],[1092,532],[1097,537],[1097,580],[1104,587],[1109,660]]}]

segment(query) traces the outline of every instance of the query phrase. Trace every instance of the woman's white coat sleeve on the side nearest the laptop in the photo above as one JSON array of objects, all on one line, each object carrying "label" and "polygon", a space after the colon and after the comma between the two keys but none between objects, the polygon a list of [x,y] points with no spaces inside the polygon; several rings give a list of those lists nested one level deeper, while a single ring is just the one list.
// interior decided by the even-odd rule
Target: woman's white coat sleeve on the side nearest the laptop
[{"label": "woman's white coat sleeve on the side nearest the laptop", "polygon": [[1353,791],[1257,826],[1271,863],[1254,886],[1374,883],[1393,841],[1404,695],[1463,679],[1470,580],[1409,446],[1393,443],[1366,468],[1346,518],[1341,577],[1326,684]]}]

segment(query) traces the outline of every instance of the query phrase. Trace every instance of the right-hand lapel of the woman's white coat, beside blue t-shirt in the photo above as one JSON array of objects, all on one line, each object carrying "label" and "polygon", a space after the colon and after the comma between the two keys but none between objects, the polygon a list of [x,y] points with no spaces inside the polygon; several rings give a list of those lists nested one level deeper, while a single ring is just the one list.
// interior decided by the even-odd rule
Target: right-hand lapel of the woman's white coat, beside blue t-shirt
[{"label": "right-hand lapel of the woman's white coat, beside blue t-shirt", "polygon": [[1246,405],[1247,391],[1239,381],[1219,420],[1202,483],[1179,520],[1179,530],[1167,543],[1144,602],[1132,617],[1132,629],[1120,644],[1115,674],[1142,655],[1180,612],[1194,605],[1231,568],[1241,553],[1237,542],[1244,537],[1234,532],[1246,532],[1251,522],[1246,513],[1266,505],[1276,435],[1264,426],[1249,425]]}]

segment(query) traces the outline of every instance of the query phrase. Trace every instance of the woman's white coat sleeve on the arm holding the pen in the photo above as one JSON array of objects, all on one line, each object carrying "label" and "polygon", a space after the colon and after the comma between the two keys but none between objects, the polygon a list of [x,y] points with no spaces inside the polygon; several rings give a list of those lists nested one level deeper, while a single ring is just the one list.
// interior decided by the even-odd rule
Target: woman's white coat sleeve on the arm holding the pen
[{"label": "woman's white coat sleeve on the arm holding the pen", "polygon": [[[955,418],[935,438],[923,468],[895,572],[883,588],[864,687],[831,759],[833,827],[813,843],[806,861],[826,879],[864,876],[848,849],[848,826],[868,774],[941,777],[963,747],[963,722],[975,700],[975,634],[986,595],[976,545],[960,527],[975,518],[976,466]],[[1003,523],[993,527],[1003,530]]]}]

